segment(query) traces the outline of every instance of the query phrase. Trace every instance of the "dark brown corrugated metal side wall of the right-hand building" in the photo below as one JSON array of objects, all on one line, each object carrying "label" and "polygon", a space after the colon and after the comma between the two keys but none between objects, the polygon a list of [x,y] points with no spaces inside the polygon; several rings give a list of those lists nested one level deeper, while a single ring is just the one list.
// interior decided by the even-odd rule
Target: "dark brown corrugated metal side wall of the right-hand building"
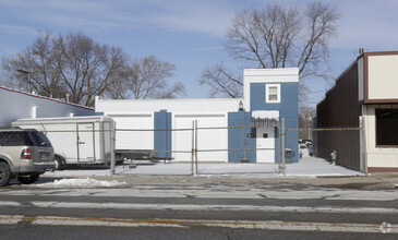
[{"label": "dark brown corrugated metal side wall of the right-hand building", "polygon": [[[358,98],[358,64],[353,64],[337,81],[326,98],[317,105],[317,128],[359,128],[361,106]],[[338,152],[337,163],[360,170],[360,132],[358,130],[318,131],[317,156],[330,158]]]}]

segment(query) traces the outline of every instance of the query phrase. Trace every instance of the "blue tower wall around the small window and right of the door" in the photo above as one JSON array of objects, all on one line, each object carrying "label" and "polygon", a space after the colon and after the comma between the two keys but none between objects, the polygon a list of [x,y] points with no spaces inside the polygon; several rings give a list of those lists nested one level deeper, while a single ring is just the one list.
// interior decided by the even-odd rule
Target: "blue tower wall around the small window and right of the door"
[{"label": "blue tower wall around the small window and right of the door", "polygon": [[[270,104],[265,101],[265,85],[280,84],[280,103]],[[278,110],[279,118],[285,118],[286,129],[299,129],[299,83],[252,83],[250,85],[250,109],[254,110]],[[278,141],[278,140],[276,140]],[[275,143],[275,147],[281,143]],[[287,153],[287,163],[299,161],[299,132],[287,131],[286,148],[291,149]],[[276,151],[277,154],[277,151]],[[275,155],[277,156],[277,155]],[[279,157],[281,159],[281,157]],[[278,157],[275,161],[277,163]]]}]

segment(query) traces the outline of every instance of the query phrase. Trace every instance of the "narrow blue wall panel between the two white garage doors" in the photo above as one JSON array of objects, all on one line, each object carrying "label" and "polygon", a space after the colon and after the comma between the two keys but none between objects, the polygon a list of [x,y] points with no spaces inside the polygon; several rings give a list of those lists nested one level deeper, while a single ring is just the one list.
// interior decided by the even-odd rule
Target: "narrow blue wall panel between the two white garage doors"
[{"label": "narrow blue wall panel between the two white garage doors", "polygon": [[171,112],[167,110],[156,111],[154,113],[154,148],[160,151],[157,157],[171,157],[171,131],[156,131],[156,130],[171,130]]}]

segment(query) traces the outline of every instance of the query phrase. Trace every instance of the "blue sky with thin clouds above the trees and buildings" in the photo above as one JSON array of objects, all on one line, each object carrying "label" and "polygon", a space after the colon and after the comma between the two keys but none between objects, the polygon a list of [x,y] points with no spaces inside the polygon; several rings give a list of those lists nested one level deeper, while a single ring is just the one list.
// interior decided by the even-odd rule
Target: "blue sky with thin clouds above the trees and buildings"
[{"label": "blue sky with thin clouds above the trees and buildings", "polygon": [[[285,0],[305,4],[306,0]],[[354,50],[398,50],[397,0],[334,0],[341,13],[339,35],[330,39],[330,74],[338,76],[354,61]],[[38,31],[82,32],[101,44],[122,47],[132,58],[149,55],[177,65],[184,98],[207,97],[197,85],[201,72],[224,61],[240,71],[222,49],[233,14],[266,4],[262,0],[0,0],[0,57],[33,43]],[[315,82],[316,80],[307,80]],[[323,98],[333,82],[314,83],[309,104]]]}]

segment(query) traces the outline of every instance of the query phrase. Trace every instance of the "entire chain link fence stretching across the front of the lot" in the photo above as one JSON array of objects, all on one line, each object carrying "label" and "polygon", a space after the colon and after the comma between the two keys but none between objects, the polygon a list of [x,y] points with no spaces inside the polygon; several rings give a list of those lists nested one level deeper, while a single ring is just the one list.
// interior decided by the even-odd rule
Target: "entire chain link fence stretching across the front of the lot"
[{"label": "entire chain link fence stretching across the front of the lot", "polygon": [[[234,127],[201,125],[195,120],[169,129],[120,128],[113,121],[32,127],[45,132],[55,148],[62,146],[60,164],[109,163],[112,175],[118,173],[117,164],[123,164],[124,171],[146,175],[286,173],[289,164],[304,157],[366,171],[363,125],[296,129],[294,122],[281,119],[270,125]],[[141,165],[162,165],[162,169],[141,170]],[[134,166],[138,170],[131,170]]]}]

